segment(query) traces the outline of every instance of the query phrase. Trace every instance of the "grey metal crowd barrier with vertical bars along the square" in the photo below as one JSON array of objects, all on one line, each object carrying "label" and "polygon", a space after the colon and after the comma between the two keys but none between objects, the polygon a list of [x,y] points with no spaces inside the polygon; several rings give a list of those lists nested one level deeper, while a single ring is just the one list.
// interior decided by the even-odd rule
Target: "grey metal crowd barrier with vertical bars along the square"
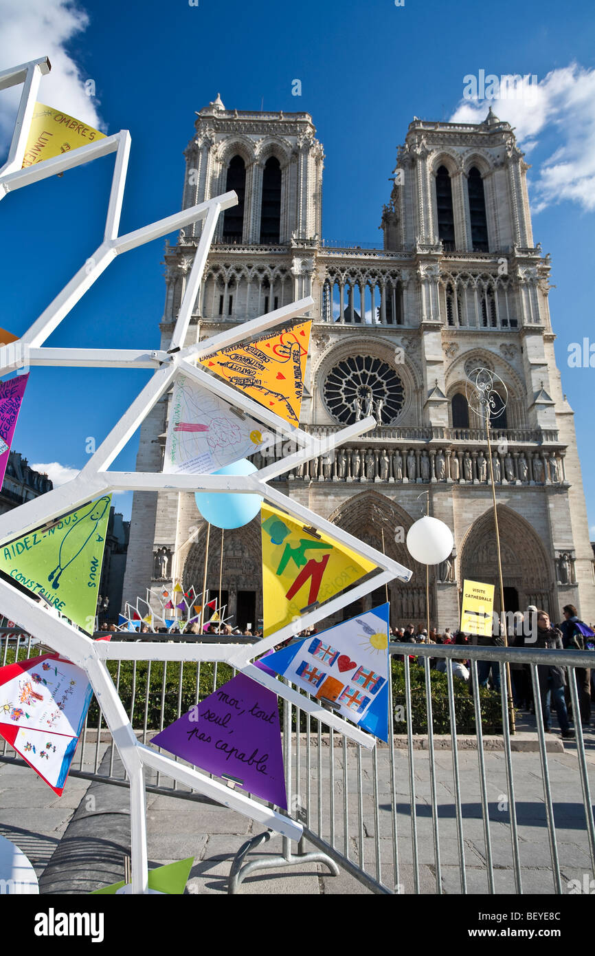
[{"label": "grey metal crowd barrier with vertical bars along the square", "polygon": [[[127,638],[120,632],[118,639]],[[154,641],[159,635],[147,634],[145,639]],[[138,640],[137,635],[130,635]],[[169,636],[164,636],[171,640]],[[221,638],[215,637],[215,641]],[[233,642],[250,641],[233,636]],[[210,642],[210,641],[209,641]],[[20,658],[29,658],[42,653],[43,646],[29,635],[0,630],[0,663],[11,663],[15,653]],[[324,863],[333,874],[337,867],[358,880],[373,893],[422,893],[422,892],[523,892],[522,863],[526,849],[526,840],[520,836],[518,820],[519,806],[534,807],[536,819],[542,808],[544,818],[537,821],[536,832],[547,838],[548,854],[545,863],[540,865],[540,880],[543,892],[567,892],[568,866],[561,868],[559,845],[555,819],[555,796],[551,782],[548,748],[542,721],[542,704],[537,667],[540,664],[557,664],[568,668],[572,675],[569,681],[572,711],[580,714],[577,685],[574,679],[576,667],[589,667],[595,662],[591,652],[550,651],[538,648],[477,647],[453,644],[409,644],[391,643],[391,655],[403,658],[405,686],[405,722],[407,733],[394,733],[393,721],[390,721],[389,743],[379,743],[373,750],[366,750],[352,744],[338,731],[329,728],[299,707],[282,702],[283,746],[287,776],[288,813],[300,819],[304,824],[304,837],[297,847],[297,853],[291,852],[290,842],[283,840],[282,852],[275,857],[253,858],[247,862],[246,855],[257,846],[267,842],[270,833],[259,834],[248,840],[233,861],[229,892],[237,892],[242,881],[250,873],[272,867],[290,867],[294,863]],[[490,765],[493,756],[485,749],[483,728],[480,718],[481,703],[478,688],[478,661],[489,659],[499,663],[500,671],[500,710],[503,776],[499,771],[499,783],[496,789],[504,791],[499,798],[505,803],[503,812],[497,818],[498,836],[505,834],[507,850],[502,853],[502,839],[494,846],[494,778],[495,771]],[[410,660],[413,658],[414,660]],[[438,735],[434,727],[433,698],[431,692],[431,660],[446,659],[446,678],[448,697],[449,734]],[[471,686],[461,686],[453,677],[454,659],[470,660]],[[539,768],[532,766],[527,772],[523,761],[527,754],[514,747],[515,738],[511,736],[507,698],[505,663],[529,664],[533,697],[536,712],[536,729],[532,735],[537,742]],[[118,691],[124,682],[124,670],[127,670],[127,695],[130,699],[130,718],[133,727],[143,742],[150,741],[154,733],[164,726],[164,713],[167,703],[168,722],[181,716],[187,709],[188,690],[184,684],[184,675],[191,677],[193,701],[211,693],[236,672],[222,663],[151,663],[141,661],[117,661],[112,663],[115,673],[114,682]],[[151,684],[151,668],[159,669],[157,684]],[[425,711],[427,733],[414,735],[412,668],[423,668],[423,686],[425,688]],[[162,668],[162,673],[160,669]],[[168,681],[169,673],[174,674],[173,684]],[[155,673],[155,671],[154,671]],[[418,672],[419,673],[419,672]],[[201,691],[202,685],[202,691]],[[184,698],[185,689],[186,697]],[[468,761],[461,767],[461,735],[457,732],[456,698],[467,694],[473,702],[474,729],[476,742],[477,771],[470,775]],[[457,696],[458,695],[458,696]],[[157,704],[155,699],[157,698]],[[182,698],[184,706],[182,707]],[[0,705],[2,701],[0,701]],[[156,714],[150,718],[150,712]],[[390,682],[390,712],[393,714],[393,683]],[[153,726],[152,726],[153,725]],[[574,826],[588,848],[590,860],[589,880],[595,879],[595,824],[591,804],[589,769],[594,764],[590,753],[587,756],[581,721],[575,720],[575,750],[572,755],[572,772],[564,777],[563,799],[567,805],[576,801],[582,804],[580,820],[575,816]],[[524,737],[526,738],[526,734]],[[450,742],[450,760],[440,742]],[[399,744],[397,747],[396,744]],[[469,744],[469,738],[465,743]],[[421,744],[422,748],[417,749]],[[490,745],[493,744],[493,738]],[[79,747],[74,756],[71,773],[85,779],[98,780],[126,787],[125,776],[118,775],[115,765],[115,748],[109,732],[104,728],[101,711],[96,707],[96,720],[87,721]],[[549,754],[551,757],[551,752]],[[556,755],[554,755],[554,758]],[[22,763],[4,742],[0,760]],[[535,761],[534,761],[535,762]],[[450,763],[450,772],[447,765]],[[538,777],[539,791],[533,788]],[[444,783],[446,774],[446,783]],[[496,774],[498,776],[498,774]],[[490,797],[490,787],[492,796]],[[206,798],[198,793],[181,787],[176,781],[162,774],[154,774],[147,780],[147,790],[152,793],[175,795],[186,800],[205,802]],[[438,793],[440,799],[438,799]],[[478,797],[478,805],[469,803],[471,797]],[[208,801],[207,801],[208,802]],[[492,812],[492,815],[491,815]],[[408,817],[408,818],[407,818]],[[475,831],[473,828],[475,827]],[[500,828],[504,827],[505,831]],[[479,833],[480,831],[480,833]],[[470,834],[474,833],[473,848],[469,847]],[[478,836],[479,834],[479,836]],[[307,853],[306,844],[311,843],[315,853]],[[478,844],[480,853],[478,855]],[[495,851],[497,858],[495,859]],[[506,858],[503,866],[502,856]],[[471,859],[473,857],[473,859]],[[586,858],[586,854],[585,854]],[[473,865],[472,865],[473,864]],[[583,861],[581,864],[586,865]],[[470,868],[471,867],[471,868]],[[512,881],[505,890],[497,886],[497,878],[505,869]],[[448,875],[450,873],[450,876]],[[476,881],[469,885],[470,874]],[[483,887],[477,888],[478,874]],[[444,878],[444,879],[443,879]],[[431,880],[431,884],[429,883]],[[450,880],[450,881],[449,881]],[[454,885],[456,880],[457,885]],[[564,880],[566,881],[564,883]],[[448,886],[445,889],[445,881]],[[549,885],[547,884],[549,881]],[[533,892],[529,886],[525,892]]]}]

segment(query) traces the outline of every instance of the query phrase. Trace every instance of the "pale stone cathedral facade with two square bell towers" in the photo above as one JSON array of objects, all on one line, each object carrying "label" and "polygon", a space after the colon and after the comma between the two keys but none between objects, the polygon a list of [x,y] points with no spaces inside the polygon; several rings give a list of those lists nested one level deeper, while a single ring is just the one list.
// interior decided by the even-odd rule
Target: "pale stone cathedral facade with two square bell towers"
[{"label": "pale stone cathedral facade with two square bell towers", "polygon": [[[409,568],[389,585],[393,624],[424,621],[425,569],[405,535],[429,491],[453,530],[450,559],[430,569],[430,612],[456,627],[465,577],[498,583],[485,432],[465,398],[478,367],[498,386],[492,466],[507,610],[537,604],[552,619],[574,603],[595,619],[573,412],[563,395],[548,309],[549,256],[533,239],[527,165],[505,121],[414,119],[381,215],[381,249],[322,238],[324,153],[307,113],[241,112],[221,98],[198,114],[183,206],[229,189],[188,341],[210,337],[311,294],[301,425],[328,435],[371,413],[376,426],[283,476],[280,487]],[[169,340],[201,225],[165,251],[161,320]],[[499,380],[504,387],[499,385]],[[505,406],[505,407],[504,407]],[[160,470],[165,396],[142,425],[138,470]],[[266,464],[256,456],[255,464]],[[207,587],[241,625],[262,617],[258,519],[210,533]],[[135,492],[124,599],[181,580],[202,589],[206,528],[194,495]],[[498,592],[498,588],[497,588]],[[385,599],[382,588],[356,610]]]}]

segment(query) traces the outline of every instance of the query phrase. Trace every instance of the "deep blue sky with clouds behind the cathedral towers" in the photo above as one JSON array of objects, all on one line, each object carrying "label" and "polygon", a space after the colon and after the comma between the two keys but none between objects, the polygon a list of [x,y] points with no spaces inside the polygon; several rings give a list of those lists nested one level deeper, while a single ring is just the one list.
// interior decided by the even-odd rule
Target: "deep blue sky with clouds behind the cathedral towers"
[{"label": "deep blue sky with clouds behind the cathedral towers", "polygon": [[[595,20],[583,3],[393,0],[294,4],[0,0],[0,69],[49,54],[39,98],[130,129],[121,230],[181,204],[182,150],[194,112],[221,92],[227,108],[307,111],[326,152],[326,238],[380,244],[396,147],[414,115],[483,119],[462,101],[463,77],[537,75],[535,103],[495,102],[527,149],[534,237],[552,255],[550,308],[563,387],[576,412],[589,522],[595,526],[590,442],[593,370],[568,368],[567,346],[592,325],[595,226]],[[292,80],[302,96],[291,95]],[[86,80],[96,96],[85,95]],[[0,95],[0,151],[15,110]],[[99,244],[113,159],[96,161],[3,200],[0,326],[22,333]],[[172,237],[173,239],[173,237]],[[163,307],[163,242],[113,263],[48,345],[155,347]],[[13,447],[31,463],[79,468],[147,380],[145,372],[33,370]],[[118,467],[134,468],[137,442]],[[129,514],[130,496],[117,498]],[[592,535],[595,537],[595,534]]]}]

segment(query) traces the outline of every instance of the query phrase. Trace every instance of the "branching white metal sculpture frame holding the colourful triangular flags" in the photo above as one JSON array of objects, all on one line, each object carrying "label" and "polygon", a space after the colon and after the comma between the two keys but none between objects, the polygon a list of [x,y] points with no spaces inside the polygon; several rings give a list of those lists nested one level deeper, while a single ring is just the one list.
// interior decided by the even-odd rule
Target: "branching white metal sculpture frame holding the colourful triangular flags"
[{"label": "branching white metal sculpture frame holding the colourful triangular flags", "polygon": [[[106,215],[102,242],[96,252],[78,270],[48,308],[32,323],[18,343],[0,348],[0,376],[17,370],[26,362],[29,365],[82,366],[89,368],[151,368],[154,374],[141,389],[105,440],[96,449],[89,462],[76,477],[60,488],[53,489],[39,498],[19,506],[0,516],[0,545],[14,537],[26,534],[51,522],[54,518],[73,511],[80,505],[96,497],[118,489],[152,490],[177,489],[180,491],[231,491],[258,494],[270,504],[287,511],[289,515],[304,521],[308,527],[327,532],[331,537],[371,560],[380,570],[376,576],[368,576],[363,582],[352,588],[347,594],[334,597],[321,607],[305,614],[301,627],[306,628],[316,621],[335,613],[346,604],[369,594],[399,577],[409,580],[411,572],[398,562],[380,554],[370,546],[358,541],[351,534],[337,528],[313,511],[309,511],[283,494],[271,488],[268,482],[290,468],[301,465],[309,459],[328,454],[337,445],[350,441],[368,431],[375,424],[372,417],[343,428],[331,437],[318,440],[301,428],[294,428],[264,406],[252,402],[243,393],[236,391],[223,380],[218,380],[198,368],[192,362],[201,359],[210,352],[223,349],[240,341],[245,341],[266,332],[281,323],[297,317],[312,306],[311,297],[301,299],[291,305],[276,309],[267,315],[261,315],[240,326],[225,329],[216,336],[200,343],[186,345],[186,334],[190,325],[192,311],[202,282],[202,273],[208,251],[213,239],[220,213],[238,202],[233,192],[216,196],[198,206],[183,209],[171,216],[138,228],[125,235],[118,235],[119,219],[123,201],[128,157],[130,152],[130,134],[121,130],[114,136],[79,147],[63,156],[46,160],[43,163],[21,169],[27,135],[32,119],[32,111],[41,76],[50,71],[47,58],[32,60],[0,73],[0,90],[23,84],[21,101],[15,122],[7,163],[0,168],[0,199],[7,193],[25,185],[31,185],[49,176],[64,172],[76,165],[88,163],[98,157],[116,153],[114,176]],[[91,288],[96,278],[116,258],[117,255],[137,248],[153,239],[158,239],[173,230],[188,226],[196,220],[203,221],[202,235],[196,250],[194,263],[189,273],[181,301],[170,347],[164,350],[123,350],[123,349],[79,349],[44,348],[43,343],[61,320],[73,309],[75,303]],[[15,344],[20,348],[15,349]],[[20,352],[20,355],[19,355]],[[233,475],[184,475],[150,472],[110,471],[119,451],[133,436],[138,425],[144,420],[151,408],[171,387],[175,376],[183,373],[200,382],[205,389],[241,408],[248,415],[287,435],[298,445],[298,451],[287,458],[261,468],[252,475],[235,477]],[[150,661],[222,661],[243,670],[259,684],[263,684],[276,694],[302,710],[317,717],[328,726],[339,730],[351,740],[372,748],[375,738],[364,733],[347,721],[298,694],[285,684],[280,684],[264,671],[255,667],[251,661],[267,649],[286,640],[294,633],[294,626],[287,625],[270,635],[264,641],[254,645],[238,645],[229,642],[220,644],[127,641],[92,641],[84,633],[63,619],[56,619],[46,608],[32,597],[16,591],[10,584],[0,580],[0,608],[10,619],[17,620],[33,635],[53,647],[64,657],[82,667],[93,685],[106,723],[112,732],[114,743],[120,754],[122,764],[130,778],[131,807],[131,854],[132,889],[135,893],[147,892],[147,846],[145,815],[144,768],[152,768],[167,776],[179,780],[193,790],[237,810],[244,815],[263,823],[290,839],[299,839],[302,826],[286,815],[269,809],[243,793],[231,791],[216,780],[193,768],[184,767],[173,759],[140,744],[130,724],[114,686],[105,662],[108,660],[150,660]]]}]

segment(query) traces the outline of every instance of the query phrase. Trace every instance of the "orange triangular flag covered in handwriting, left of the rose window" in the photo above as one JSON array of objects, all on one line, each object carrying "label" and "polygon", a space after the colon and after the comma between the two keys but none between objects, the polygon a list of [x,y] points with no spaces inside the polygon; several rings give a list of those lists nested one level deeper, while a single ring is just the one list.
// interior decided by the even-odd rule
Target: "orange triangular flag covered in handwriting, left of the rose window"
[{"label": "orange triangular flag covered in handwriting, left of the rose window", "polygon": [[271,332],[248,345],[229,345],[202,365],[241,388],[289,424],[300,422],[311,322]]}]

